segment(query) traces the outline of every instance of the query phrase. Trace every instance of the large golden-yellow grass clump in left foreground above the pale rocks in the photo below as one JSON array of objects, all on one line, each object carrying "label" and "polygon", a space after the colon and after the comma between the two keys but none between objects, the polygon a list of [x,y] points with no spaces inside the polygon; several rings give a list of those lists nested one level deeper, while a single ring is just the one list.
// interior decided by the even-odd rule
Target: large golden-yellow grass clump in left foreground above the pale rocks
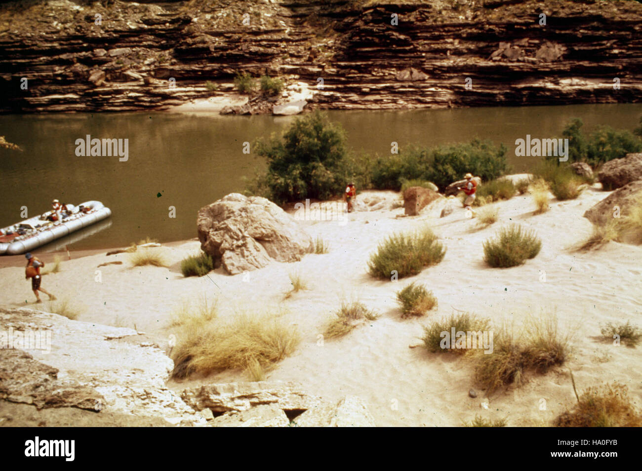
[{"label": "large golden-yellow grass clump in left foreground above the pale rocks", "polygon": [[243,368],[257,375],[292,354],[301,341],[297,327],[275,314],[240,314],[229,321],[189,321],[172,351],[173,377]]}]

